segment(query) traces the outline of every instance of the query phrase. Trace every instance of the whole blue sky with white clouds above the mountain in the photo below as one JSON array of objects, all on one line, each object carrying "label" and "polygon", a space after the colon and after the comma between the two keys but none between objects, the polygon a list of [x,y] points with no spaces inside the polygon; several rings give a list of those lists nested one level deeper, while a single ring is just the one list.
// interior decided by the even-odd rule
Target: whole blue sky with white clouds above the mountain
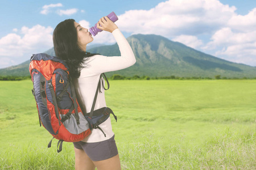
[{"label": "whole blue sky with white clouds above the mountain", "polygon": [[[56,25],[92,27],[114,11],[123,35],[156,34],[232,62],[256,66],[255,0],[1,1],[0,68],[52,48]],[[101,32],[92,44],[113,44]]]}]

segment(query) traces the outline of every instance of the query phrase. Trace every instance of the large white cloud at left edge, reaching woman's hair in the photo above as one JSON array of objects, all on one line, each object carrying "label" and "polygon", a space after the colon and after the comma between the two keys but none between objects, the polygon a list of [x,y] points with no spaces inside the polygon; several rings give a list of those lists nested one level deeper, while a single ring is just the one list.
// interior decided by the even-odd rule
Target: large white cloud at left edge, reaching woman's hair
[{"label": "large white cloud at left edge, reaching woman's hair", "polygon": [[0,39],[1,62],[11,65],[13,61],[24,61],[22,58],[29,59],[32,53],[44,52],[53,46],[51,27],[35,25],[32,28],[22,27],[18,32],[9,33]]}]

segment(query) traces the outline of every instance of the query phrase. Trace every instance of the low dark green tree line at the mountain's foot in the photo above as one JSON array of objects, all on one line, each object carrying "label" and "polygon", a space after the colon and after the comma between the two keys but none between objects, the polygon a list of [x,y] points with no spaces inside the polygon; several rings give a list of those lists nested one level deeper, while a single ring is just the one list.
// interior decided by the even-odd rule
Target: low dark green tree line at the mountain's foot
[{"label": "low dark green tree line at the mountain's foot", "polygon": [[[27,79],[31,79],[31,76],[0,76],[0,81],[19,81],[19,80],[27,80]],[[243,78],[227,78],[225,76],[221,76],[221,75],[215,75],[214,78],[210,78],[210,77],[197,77],[197,76],[191,76],[191,77],[181,77],[181,76],[175,76],[175,75],[171,75],[171,76],[154,76],[154,77],[150,77],[147,75],[143,75],[143,76],[139,76],[139,75],[134,75],[134,76],[122,76],[119,74],[114,74],[112,76],[110,76],[108,79],[110,80],[157,80],[157,79],[176,79],[176,80],[190,80],[190,79],[256,79],[255,78],[247,78],[247,77],[243,77]]]}]

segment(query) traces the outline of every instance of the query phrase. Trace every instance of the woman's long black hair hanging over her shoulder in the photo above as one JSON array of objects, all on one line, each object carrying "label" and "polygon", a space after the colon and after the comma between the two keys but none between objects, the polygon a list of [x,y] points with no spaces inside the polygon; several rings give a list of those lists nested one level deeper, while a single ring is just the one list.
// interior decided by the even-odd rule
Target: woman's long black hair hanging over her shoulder
[{"label": "woman's long black hair hanging over her shoulder", "polygon": [[66,19],[57,24],[53,31],[53,46],[56,56],[67,63],[72,78],[79,78],[85,58],[95,55],[84,52],[77,45],[74,19]]}]

